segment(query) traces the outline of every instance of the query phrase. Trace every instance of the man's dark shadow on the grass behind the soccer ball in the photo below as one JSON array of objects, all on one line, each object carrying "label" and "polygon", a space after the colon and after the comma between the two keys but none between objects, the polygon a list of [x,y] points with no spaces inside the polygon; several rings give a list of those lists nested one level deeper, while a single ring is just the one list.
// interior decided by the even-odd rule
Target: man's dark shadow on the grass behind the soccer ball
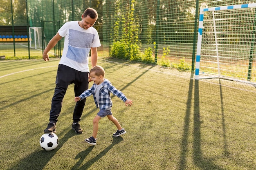
[{"label": "man's dark shadow on the grass behind the soccer ball", "polygon": [[[61,134],[59,135],[61,136]],[[20,160],[17,164],[9,168],[9,170],[42,170],[54,157],[56,152],[58,152],[58,150],[67,142],[67,140],[74,135],[76,134],[70,129],[61,139],[59,139],[59,144],[56,149],[51,151],[45,151],[43,149],[37,150]]]}]

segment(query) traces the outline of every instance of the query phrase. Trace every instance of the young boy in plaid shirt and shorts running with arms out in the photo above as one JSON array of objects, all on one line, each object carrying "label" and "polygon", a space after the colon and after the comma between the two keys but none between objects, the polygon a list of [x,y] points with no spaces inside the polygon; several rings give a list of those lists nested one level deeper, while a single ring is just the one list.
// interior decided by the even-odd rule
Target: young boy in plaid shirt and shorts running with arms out
[{"label": "young boy in plaid shirt and shorts running with arms out", "polygon": [[79,97],[75,97],[75,102],[85,99],[93,95],[94,102],[96,107],[99,108],[99,113],[93,119],[93,133],[92,136],[85,141],[88,144],[96,145],[96,137],[99,129],[99,120],[102,117],[107,116],[109,120],[111,120],[117,126],[117,132],[113,134],[114,137],[118,137],[120,135],[124,135],[126,131],[121,127],[118,120],[112,115],[112,100],[110,98],[110,93],[113,93],[121,100],[125,102],[125,105],[132,106],[132,100],[127,99],[124,93],[117,90],[114,86],[112,86],[111,82],[108,79],[104,79],[105,71],[101,66],[94,66],[90,70],[90,77],[94,84],[92,87],[86,91],[84,91]]}]

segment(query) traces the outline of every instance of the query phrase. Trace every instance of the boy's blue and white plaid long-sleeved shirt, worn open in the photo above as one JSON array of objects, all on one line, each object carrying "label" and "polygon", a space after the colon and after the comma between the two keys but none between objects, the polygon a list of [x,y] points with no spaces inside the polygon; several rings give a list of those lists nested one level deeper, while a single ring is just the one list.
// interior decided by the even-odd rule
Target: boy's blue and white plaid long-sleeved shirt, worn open
[{"label": "boy's blue and white plaid long-sleeved shirt, worn open", "polygon": [[127,100],[124,93],[117,90],[108,79],[104,79],[104,82],[102,83],[102,87],[99,91],[99,105],[97,103],[96,97],[95,97],[95,86],[96,84],[93,84],[92,87],[86,91],[84,91],[79,97],[80,99],[84,99],[86,97],[89,97],[93,95],[94,102],[96,104],[96,107],[100,109],[108,109],[110,106],[112,106],[112,100],[110,98],[110,93],[113,93],[119,99],[123,100],[124,102]]}]

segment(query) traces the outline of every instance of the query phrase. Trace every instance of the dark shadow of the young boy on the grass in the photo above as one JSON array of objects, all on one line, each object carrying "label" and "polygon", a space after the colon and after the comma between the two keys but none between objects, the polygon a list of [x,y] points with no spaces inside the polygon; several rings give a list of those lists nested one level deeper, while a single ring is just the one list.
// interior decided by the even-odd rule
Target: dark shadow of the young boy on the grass
[{"label": "dark shadow of the young boy on the grass", "polygon": [[[85,160],[86,156],[92,151],[92,149],[94,148],[94,146],[90,146],[89,148],[87,148],[86,150],[80,152],[79,154],[76,155],[75,159],[79,159],[79,161],[76,163],[76,165],[73,166],[72,170],[85,170],[90,168],[90,166],[92,166],[93,163],[97,162],[99,159],[101,159],[104,155],[106,155],[108,153],[108,151],[110,151],[110,149],[115,146],[116,144],[119,144],[121,141],[123,141],[124,139],[122,137],[112,137],[113,141],[112,144],[110,144],[110,146],[108,146],[106,149],[104,149],[103,151],[101,151],[98,155],[96,155],[94,158],[90,159],[88,162],[86,162],[83,166],[81,166],[81,164],[83,163],[83,161]],[[81,167],[80,167],[81,166]]]}]

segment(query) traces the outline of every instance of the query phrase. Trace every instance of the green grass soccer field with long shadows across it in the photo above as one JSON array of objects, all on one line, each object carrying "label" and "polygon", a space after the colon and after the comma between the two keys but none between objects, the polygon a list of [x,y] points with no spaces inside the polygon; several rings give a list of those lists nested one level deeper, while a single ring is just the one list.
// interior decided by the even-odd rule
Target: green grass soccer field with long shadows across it
[{"label": "green grass soccer field with long shadows across it", "polygon": [[[222,79],[195,81],[190,72],[99,57],[106,78],[132,99],[126,107],[112,97],[113,115],[127,133],[103,118],[96,146],[97,114],[88,97],[84,132],[71,129],[74,85],[56,124],[58,147],[40,148],[49,123],[59,59],[0,61],[1,170],[254,170],[256,169],[256,88]],[[92,82],[89,84],[92,86]]]}]

